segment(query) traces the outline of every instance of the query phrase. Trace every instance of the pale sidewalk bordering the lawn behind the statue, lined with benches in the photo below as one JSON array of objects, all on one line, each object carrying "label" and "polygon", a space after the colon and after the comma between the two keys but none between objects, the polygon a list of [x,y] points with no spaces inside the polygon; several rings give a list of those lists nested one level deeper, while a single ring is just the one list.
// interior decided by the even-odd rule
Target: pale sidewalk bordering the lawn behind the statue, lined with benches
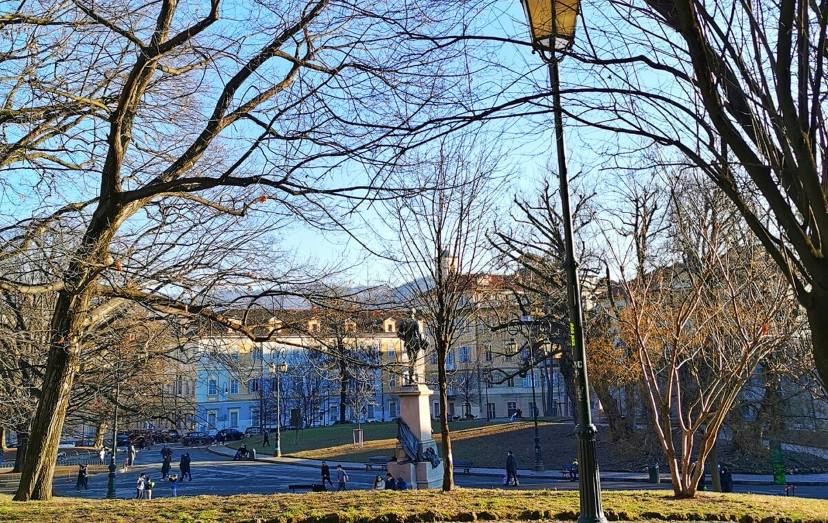
[{"label": "pale sidewalk bordering the lawn behind the statue, lined with benches", "polygon": [[[235,449],[230,449],[229,447],[219,447],[210,445],[207,450],[214,454],[219,454],[220,456],[230,456],[233,457],[236,453]],[[272,456],[267,456],[264,454],[258,454],[256,456],[256,461],[261,461],[264,463],[284,463],[286,465],[296,465],[298,467],[313,467],[313,468],[320,468],[322,466],[322,461],[320,459],[307,459],[307,458],[287,458],[283,456],[282,458],[274,458]],[[332,460],[327,460],[330,463],[334,463]],[[329,464],[330,464],[329,463]],[[365,470],[364,463],[353,463],[353,462],[335,462],[335,465],[342,465],[342,468],[345,470]],[[494,476],[494,477],[503,477],[503,468],[484,468],[484,467],[472,467],[470,468],[470,473],[474,476]],[[566,481],[566,478],[554,470],[545,470],[542,473],[537,473],[533,470],[518,470],[517,475],[520,477],[532,478],[532,479],[555,479]],[[708,476],[708,482],[710,481],[710,477]],[[669,483],[670,482],[670,475],[667,473],[665,477],[664,472],[662,471],[661,474],[662,483]],[[649,477],[647,473],[621,473],[621,472],[607,472],[601,471],[601,481],[602,482],[649,482]],[[733,482],[734,484],[739,485],[773,485],[773,476],[770,474],[734,474],[733,475]],[[828,485],[828,474],[791,474],[787,476],[787,482],[792,483],[797,486],[803,487],[821,487],[824,485]]]}]

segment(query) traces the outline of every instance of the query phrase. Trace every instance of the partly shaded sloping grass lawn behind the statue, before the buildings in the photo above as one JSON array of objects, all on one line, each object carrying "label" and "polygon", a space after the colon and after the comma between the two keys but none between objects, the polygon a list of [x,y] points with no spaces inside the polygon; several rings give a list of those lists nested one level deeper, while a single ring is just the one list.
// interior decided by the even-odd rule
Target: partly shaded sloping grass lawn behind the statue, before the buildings
[{"label": "partly shaded sloping grass lawn behind the statue, before the buildings", "polygon": [[[540,433],[546,453],[546,468],[554,469],[570,463],[577,453],[574,426],[565,423],[540,422]],[[363,449],[354,449],[353,429],[356,425],[333,425],[316,429],[294,430],[282,433],[282,455],[294,458],[327,459],[330,461],[367,461],[371,456],[388,455],[397,446],[396,423],[362,425]],[[440,442],[440,427],[432,425],[435,439]],[[506,451],[512,449],[519,467],[529,468],[534,463],[534,429],[531,421],[459,421],[451,424],[452,454],[457,461],[470,461],[477,467],[503,467]],[[262,436],[234,441],[230,447],[242,443],[253,446],[259,454],[273,453],[276,434],[270,434],[270,446],[262,447]],[[551,449],[554,445],[554,449]],[[603,456],[599,455],[599,458]],[[606,467],[604,461],[600,462]]]}]

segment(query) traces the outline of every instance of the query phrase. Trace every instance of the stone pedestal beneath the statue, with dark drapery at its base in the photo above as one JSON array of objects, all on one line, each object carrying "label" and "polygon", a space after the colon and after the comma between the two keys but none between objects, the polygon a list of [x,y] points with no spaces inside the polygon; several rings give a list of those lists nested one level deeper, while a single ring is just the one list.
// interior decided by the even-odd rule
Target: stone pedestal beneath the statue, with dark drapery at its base
[{"label": "stone pedestal beneath the statue, with dark drapery at its base", "polygon": [[[426,449],[432,449],[434,453],[440,455],[437,443],[431,437],[431,410],[428,404],[428,398],[431,394],[431,389],[423,384],[405,386],[399,392],[400,417],[421,442],[417,453],[418,458],[422,457],[422,453],[426,452]],[[428,461],[402,463],[405,460],[406,454],[402,450],[402,446],[397,444],[397,461],[388,463],[388,472],[393,477],[402,477],[412,488],[442,487],[442,463],[433,468]]]}]

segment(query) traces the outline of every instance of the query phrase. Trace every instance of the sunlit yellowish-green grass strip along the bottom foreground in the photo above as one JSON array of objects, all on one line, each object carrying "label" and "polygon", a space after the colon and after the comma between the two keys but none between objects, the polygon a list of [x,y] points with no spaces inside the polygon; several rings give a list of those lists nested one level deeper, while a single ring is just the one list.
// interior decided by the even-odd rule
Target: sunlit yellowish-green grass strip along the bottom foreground
[{"label": "sunlit yellowish-green grass strip along the bottom foreground", "polygon": [[[576,492],[458,489],[408,492],[320,492],[272,496],[178,497],[152,501],[12,502],[0,496],[0,521],[274,521],[414,523],[415,521],[572,521]],[[828,501],[701,492],[676,500],[662,491],[606,492],[611,521],[828,521]]]}]

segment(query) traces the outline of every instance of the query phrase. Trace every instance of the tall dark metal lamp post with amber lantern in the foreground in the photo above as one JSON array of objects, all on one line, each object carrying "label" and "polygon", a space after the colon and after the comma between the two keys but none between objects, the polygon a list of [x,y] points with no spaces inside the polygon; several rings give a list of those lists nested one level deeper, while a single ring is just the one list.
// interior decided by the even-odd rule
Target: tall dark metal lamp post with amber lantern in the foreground
[{"label": "tall dark metal lamp post with amber lantern in the foreground", "polygon": [[[570,310],[570,343],[575,362],[575,397],[578,400],[578,465],[580,473],[580,516],[578,521],[607,521],[601,504],[601,482],[598,460],[595,456],[595,434],[590,407],[590,381],[586,369],[584,349],[584,325],[580,305],[580,282],[575,263],[572,239],[572,214],[570,211],[569,180],[566,173],[566,148],[564,144],[563,111],[561,110],[561,78],[558,62],[562,51],[569,50],[575,39],[580,0],[521,0],[526,13],[532,45],[549,65],[552,89],[552,105],[555,116],[555,142],[558,157],[558,180],[561,184],[561,212],[566,247],[566,295]],[[557,54],[557,55],[556,55]]]}]

